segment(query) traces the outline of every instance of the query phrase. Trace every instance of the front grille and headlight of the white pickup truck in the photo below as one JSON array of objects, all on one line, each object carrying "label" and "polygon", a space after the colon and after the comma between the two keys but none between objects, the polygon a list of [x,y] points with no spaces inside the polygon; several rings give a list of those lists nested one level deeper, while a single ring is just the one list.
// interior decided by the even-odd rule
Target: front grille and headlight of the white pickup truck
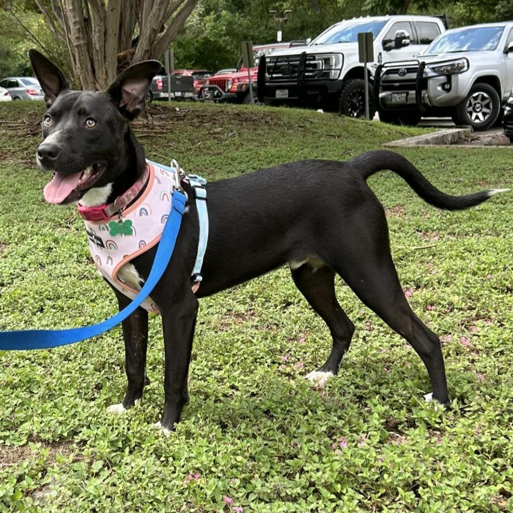
[{"label": "front grille and headlight of the white pickup truck", "polygon": [[[266,75],[269,82],[297,81],[301,55],[270,55],[266,60]],[[328,55],[305,55],[305,69],[303,80],[330,80],[338,78],[342,68],[342,55],[340,55],[340,68],[326,66],[324,60]]]}]

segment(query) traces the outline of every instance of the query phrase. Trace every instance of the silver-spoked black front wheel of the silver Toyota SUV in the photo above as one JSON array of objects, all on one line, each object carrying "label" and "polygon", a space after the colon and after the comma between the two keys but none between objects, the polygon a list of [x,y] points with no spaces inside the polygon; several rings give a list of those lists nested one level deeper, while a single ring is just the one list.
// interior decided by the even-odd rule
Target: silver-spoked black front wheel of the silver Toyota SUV
[{"label": "silver-spoked black front wheel of the silver Toyota SUV", "polygon": [[501,101],[497,91],[488,84],[474,84],[467,97],[456,107],[456,119],[474,130],[485,130],[495,123]]}]

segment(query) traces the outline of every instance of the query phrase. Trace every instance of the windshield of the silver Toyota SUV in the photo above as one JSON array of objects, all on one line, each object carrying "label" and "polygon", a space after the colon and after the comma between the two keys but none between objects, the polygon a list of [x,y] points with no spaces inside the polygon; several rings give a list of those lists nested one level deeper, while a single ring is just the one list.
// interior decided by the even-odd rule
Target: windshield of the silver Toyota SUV
[{"label": "windshield of the silver Toyota SUV", "polygon": [[480,27],[446,32],[433,41],[424,53],[495,50],[503,30],[504,27]]}]

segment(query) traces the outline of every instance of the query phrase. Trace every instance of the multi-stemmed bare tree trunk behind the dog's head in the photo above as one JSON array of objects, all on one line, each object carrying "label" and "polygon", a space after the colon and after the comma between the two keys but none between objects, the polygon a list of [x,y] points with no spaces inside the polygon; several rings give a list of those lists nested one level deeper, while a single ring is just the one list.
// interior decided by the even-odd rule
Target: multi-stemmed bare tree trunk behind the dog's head
[{"label": "multi-stemmed bare tree trunk behind the dog's head", "polygon": [[60,0],[35,0],[50,30],[67,42],[75,78],[92,90],[113,82],[120,55],[124,67],[161,57],[198,1],[63,0],[63,7]]}]

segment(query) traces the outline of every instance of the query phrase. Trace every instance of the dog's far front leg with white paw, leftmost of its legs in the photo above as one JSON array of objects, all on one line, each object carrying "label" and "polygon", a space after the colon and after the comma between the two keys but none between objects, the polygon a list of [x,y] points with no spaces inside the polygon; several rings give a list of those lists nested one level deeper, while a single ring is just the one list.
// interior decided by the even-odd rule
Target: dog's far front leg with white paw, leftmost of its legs
[{"label": "dog's far front leg with white paw, leftmost of its legs", "polygon": [[[125,308],[131,300],[114,289],[120,310]],[[107,408],[111,413],[123,413],[135,405],[143,397],[143,388],[149,384],[146,377],[146,350],[148,346],[148,312],[144,308],[137,308],[122,322],[123,339],[125,341],[125,367],[128,378],[128,388],[125,399],[120,404],[113,404]]]}]

